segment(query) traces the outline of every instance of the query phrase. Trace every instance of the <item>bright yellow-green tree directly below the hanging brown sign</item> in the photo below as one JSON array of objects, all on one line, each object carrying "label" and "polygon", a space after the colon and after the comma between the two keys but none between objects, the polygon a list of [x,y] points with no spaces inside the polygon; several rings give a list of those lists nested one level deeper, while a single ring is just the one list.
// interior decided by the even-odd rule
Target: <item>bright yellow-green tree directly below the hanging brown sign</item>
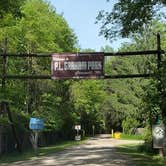
[{"label": "bright yellow-green tree directly below the hanging brown sign", "polygon": [[71,86],[71,100],[74,104],[77,123],[81,123],[87,133],[92,125],[99,131],[102,128],[102,104],[105,98],[101,81],[81,80]]}]

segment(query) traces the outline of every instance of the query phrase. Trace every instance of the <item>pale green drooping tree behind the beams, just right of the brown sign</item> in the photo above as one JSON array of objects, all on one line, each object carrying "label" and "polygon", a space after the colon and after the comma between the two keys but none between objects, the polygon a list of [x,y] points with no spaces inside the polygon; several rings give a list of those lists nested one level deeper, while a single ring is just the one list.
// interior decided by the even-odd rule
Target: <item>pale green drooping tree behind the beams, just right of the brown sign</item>
[{"label": "pale green drooping tree behind the beams, just right of the brown sign", "polygon": [[[105,72],[109,75],[143,73],[139,70],[139,65],[142,65],[139,58],[122,59],[115,57],[106,62]],[[144,94],[144,86],[147,83],[148,81],[143,79],[105,81],[105,89],[108,96],[104,101],[103,108],[108,126],[119,128],[123,120],[131,118],[138,122],[137,126],[144,125],[145,118],[142,108],[144,101],[142,96]]]}]

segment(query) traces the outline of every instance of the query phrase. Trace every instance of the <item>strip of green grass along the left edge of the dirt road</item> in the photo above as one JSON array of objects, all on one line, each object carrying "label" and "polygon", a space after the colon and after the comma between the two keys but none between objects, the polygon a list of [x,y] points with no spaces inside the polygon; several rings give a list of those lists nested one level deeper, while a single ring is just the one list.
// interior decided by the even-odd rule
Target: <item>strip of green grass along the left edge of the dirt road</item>
[{"label": "strip of green grass along the left edge of the dirt road", "polygon": [[65,148],[69,148],[74,145],[80,145],[82,143],[84,143],[84,140],[83,141],[65,141],[56,145],[41,147],[41,148],[38,148],[38,155],[36,155],[33,150],[29,150],[21,154],[18,152],[5,154],[0,156],[0,163],[11,163],[15,161],[32,160],[40,156],[45,156],[45,155],[52,154],[58,151],[62,151]]}]

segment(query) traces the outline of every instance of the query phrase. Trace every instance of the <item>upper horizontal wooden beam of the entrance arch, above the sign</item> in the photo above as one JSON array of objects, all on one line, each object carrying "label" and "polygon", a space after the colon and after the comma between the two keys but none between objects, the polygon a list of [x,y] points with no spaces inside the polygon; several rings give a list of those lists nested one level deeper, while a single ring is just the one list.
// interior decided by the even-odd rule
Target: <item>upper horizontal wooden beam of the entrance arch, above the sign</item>
[{"label": "upper horizontal wooden beam of the entrance arch, above the sign", "polygon": [[[147,51],[130,51],[130,52],[106,52],[103,53],[104,56],[131,56],[131,55],[157,55],[159,53],[158,50],[147,50]],[[160,51],[161,54],[165,53],[164,50]],[[54,53],[34,53],[34,54],[6,54],[8,57],[36,57],[36,58],[51,58]],[[71,53],[71,54],[102,54],[102,52],[79,52],[79,53]],[[3,57],[3,54],[0,54],[0,57]]]}]

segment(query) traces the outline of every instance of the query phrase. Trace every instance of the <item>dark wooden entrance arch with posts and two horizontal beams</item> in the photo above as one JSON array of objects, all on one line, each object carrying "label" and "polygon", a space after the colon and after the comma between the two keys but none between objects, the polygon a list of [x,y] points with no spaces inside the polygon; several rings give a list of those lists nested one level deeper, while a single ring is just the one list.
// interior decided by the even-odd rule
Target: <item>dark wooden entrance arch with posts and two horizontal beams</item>
[{"label": "dark wooden entrance arch with posts and two horizontal beams", "polygon": [[[52,79],[51,74],[50,75],[8,75],[7,73],[7,58],[9,57],[20,57],[20,58],[50,58],[53,53],[42,53],[42,54],[8,54],[7,53],[7,40],[4,42],[4,48],[3,48],[3,53],[0,55],[0,58],[2,58],[2,75],[0,75],[0,78],[2,80],[2,92],[6,93],[6,80],[8,79],[21,79],[21,80],[26,80],[26,79]],[[160,42],[160,34],[157,34],[157,48],[156,50],[146,50],[146,51],[132,51],[132,52],[116,52],[116,53],[104,53],[105,56],[121,56],[121,57],[126,57],[126,56],[147,56],[147,55],[156,55],[157,56],[157,69],[158,69],[158,76],[157,79],[161,80],[161,62],[162,62],[162,54],[165,52],[161,49],[161,42]],[[79,53],[75,53],[79,54]],[[80,53],[83,54],[83,53]],[[87,53],[86,53],[87,54]],[[96,54],[95,52],[88,53],[89,55],[94,55]],[[127,74],[127,75],[104,75],[103,79],[125,79],[125,78],[149,78],[149,77],[155,77],[155,73],[150,73],[150,74]],[[161,82],[160,82],[161,83]],[[161,84],[158,86],[158,91],[161,94],[162,93],[162,88]],[[21,152],[21,147],[19,143],[19,139],[16,134],[15,127],[13,125],[13,119],[12,119],[12,114],[9,109],[9,105],[6,101],[1,101],[1,109],[4,112],[7,112],[9,121],[11,122],[11,127],[12,127],[12,132],[15,137],[15,141],[17,143],[17,149],[19,152]],[[161,150],[161,153],[163,153],[163,150]]]}]

